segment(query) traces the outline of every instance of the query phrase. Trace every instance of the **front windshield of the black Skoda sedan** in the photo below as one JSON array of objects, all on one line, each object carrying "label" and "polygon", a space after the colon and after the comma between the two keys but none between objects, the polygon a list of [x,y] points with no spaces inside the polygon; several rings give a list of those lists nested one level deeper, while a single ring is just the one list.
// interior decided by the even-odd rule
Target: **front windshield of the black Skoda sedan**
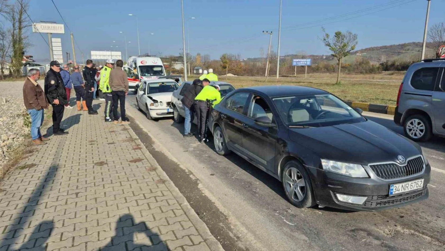
[{"label": "front windshield of the black Skoda sedan", "polygon": [[324,127],[366,119],[331,94],[274,98],[279,116],[288,126]]}]

